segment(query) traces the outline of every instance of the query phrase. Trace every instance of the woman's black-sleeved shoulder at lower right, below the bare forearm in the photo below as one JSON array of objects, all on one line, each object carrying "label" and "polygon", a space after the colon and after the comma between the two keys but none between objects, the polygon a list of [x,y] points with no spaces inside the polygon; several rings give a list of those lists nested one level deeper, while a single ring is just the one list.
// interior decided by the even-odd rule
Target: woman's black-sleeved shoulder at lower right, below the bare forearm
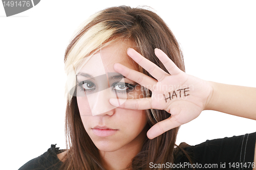
[{"label": "woman's black-sleeved shoulder at lower right, below the bare forearm", "polygon": [[220,139],[206,140],[194,146],[187,146],[184,150],[191,153],[195,162],[206,164],[253,162],[256,132],[225,137]]}]

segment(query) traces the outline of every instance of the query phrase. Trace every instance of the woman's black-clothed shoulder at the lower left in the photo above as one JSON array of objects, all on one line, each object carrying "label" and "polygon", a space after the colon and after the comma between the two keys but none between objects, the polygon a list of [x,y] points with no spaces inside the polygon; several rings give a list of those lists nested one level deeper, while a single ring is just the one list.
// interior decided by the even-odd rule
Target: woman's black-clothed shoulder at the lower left
[{"label": "woman's black-clothed shoulder at the lower left", "polygon": [[58,159],[57,154],[62,153],[63,150],[56,148],[56,144],[52,144],[51,148],[47,150],[44,154],[34,158],[27,163],[25,163],[18,170],[42,170],[48,168],[58,169],[61,165],[61,161]]}]

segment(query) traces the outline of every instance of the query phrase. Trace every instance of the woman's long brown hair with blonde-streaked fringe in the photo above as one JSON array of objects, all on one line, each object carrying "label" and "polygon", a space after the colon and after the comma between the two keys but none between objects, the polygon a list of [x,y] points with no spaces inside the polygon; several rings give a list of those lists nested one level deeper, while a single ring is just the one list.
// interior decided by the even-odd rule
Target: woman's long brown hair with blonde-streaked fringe
[{"label": "woman's long brown hair with blonde-streaked fringe", "polygon": [[[95,29],[95,27],[99,25],[100,27]],[[89,32],[92,32],[94,35],[86,35],[89,34]],[[101,40],[102,42],[97,45],[95,44],[95,37],[102,32],[109,33],[104,41]],[[88,38],[84,38],[84,36]],[[127,6],[108,8],[93,15],[89,21],[79,29],[68,45],[65,53],[65,64],[71,65],[78,53],[79,55],[83,55],[82,57],[86,57],[86,55],[89,55],[89,52],[97,51],[102,47],[102,44],[111,43],[118,38],[133,41],[136,50],[142,56],[155,63],[166,72],[168,71],[155,56],[155,48],[161,49],[181,70],[185,71],[183,55],[179,43],[166,23],[156,13],[150,10]],[[82,41],[81,39],[84,39],[84,43],[88,45],[81,46],[81,44],[84,44],[79,42]],[[83,48],[87,48],[89,45],[93,46],[91,50],[88,50],[87,53],[81,52],[84,50]],[[68,66],[66,68],[68,68]],[[151,77],[142,67],[139,67],[139,71]],[[147,89],[144,89],[143,93],[145,97],[151,96],[151,92]],[[148,128],[170,116],[166,111],[156,109],[146,110],[146,114]],[[152,169],[150,168],[150,162],[156,164],[174,162],[173,151],[178,129],[179,128],[174,128],[169,130],[152,140],[146,139],[141,152],[135,156],[130,164],[130,168]],[[62,163],[61,169],[104,169],[98,149],[83,127],[75,96],[70,96],[70,99],[68,99],[66,134],[67,147],[69,145],[70,149],[67,150],[67,155]]]}]

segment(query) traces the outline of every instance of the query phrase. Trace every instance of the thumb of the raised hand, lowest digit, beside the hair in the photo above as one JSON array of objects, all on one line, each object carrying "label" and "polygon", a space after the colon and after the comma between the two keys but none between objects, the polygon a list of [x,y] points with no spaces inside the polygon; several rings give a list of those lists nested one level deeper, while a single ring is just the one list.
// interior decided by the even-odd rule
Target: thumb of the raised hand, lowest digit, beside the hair
[{"label": "thumb of the raised hand, lowest digit, beside the hair", "polygon": [[179,127],[181,125],[182,124],[177,122],[175,118],[169,117],[151,127],[150,130],[147,131],[147,137],[149,139],[154,139],[155,137],[163,134],[164,132]]}]

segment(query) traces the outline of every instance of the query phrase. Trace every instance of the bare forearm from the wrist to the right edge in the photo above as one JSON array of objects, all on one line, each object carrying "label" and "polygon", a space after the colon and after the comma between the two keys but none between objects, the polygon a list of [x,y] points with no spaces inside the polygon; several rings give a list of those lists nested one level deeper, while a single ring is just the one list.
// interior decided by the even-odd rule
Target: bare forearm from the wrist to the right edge
[{"label": "bare forearm from the wrist to the right edge", "polygon": [[256,120],[256,88],[209,82],[212,92],[204,110]]}]

